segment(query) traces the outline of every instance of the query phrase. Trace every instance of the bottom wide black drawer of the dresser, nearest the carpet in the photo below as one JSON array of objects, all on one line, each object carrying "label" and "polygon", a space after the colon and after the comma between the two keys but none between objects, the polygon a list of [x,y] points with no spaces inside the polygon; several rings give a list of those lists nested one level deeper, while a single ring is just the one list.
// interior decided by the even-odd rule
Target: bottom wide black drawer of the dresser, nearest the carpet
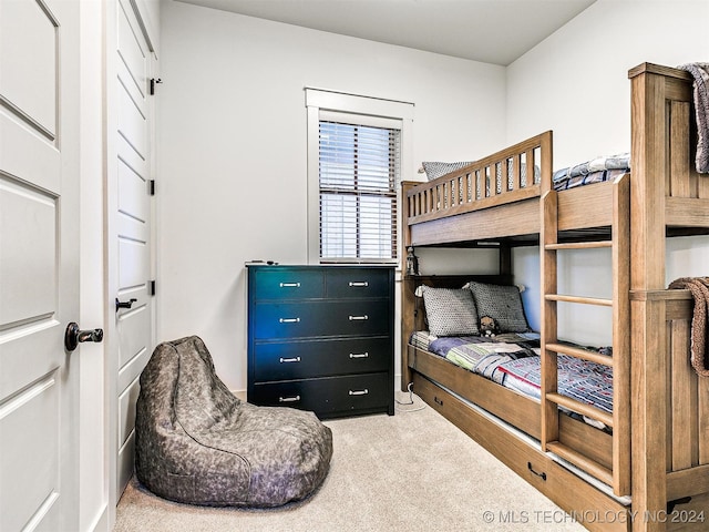
[{"label": "bottom wide black drawer of the dresser, nearest the carpet", "polygon": [[248,401],[310,410],[320,418],[389,410],[393,413],[390,380],[390,375],[382,372],[257,383],[249,390]]}]

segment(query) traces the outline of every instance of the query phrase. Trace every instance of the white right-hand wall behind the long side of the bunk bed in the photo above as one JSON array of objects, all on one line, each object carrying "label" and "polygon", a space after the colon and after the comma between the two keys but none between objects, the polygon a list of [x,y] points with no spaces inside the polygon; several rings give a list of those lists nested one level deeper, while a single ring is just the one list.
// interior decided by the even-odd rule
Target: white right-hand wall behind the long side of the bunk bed
[{"label": "white right-hand wall behind the long side of the bunk bed", "polygon": [[[507,68],[507,141],[554,131],[554,167],[630,150],[630,82],[627,72],[643,62],[670,66],[709,61],[709,1],[598,0],[586,11]],[[708,177],[709,178],[709,177]],[[538,327],[538,248],[518,249],[515,278],[534,289],[527,313]],[[583,252],[562,263],[564,289],[609,294],[603,252]],[[707,275],[709,239],[668,242],[668,282],[680,275]],[[571,278],[574,272],[576,279]],[[595,272],[595,274],[594,274]],[[561,334],[578,341],[597,339],[593,324],[608,315],[584,310],[580,326],[561,324]],[[607,330],[607,329],[606,329]],[[609,338],[609,336],[608,336]]]}]

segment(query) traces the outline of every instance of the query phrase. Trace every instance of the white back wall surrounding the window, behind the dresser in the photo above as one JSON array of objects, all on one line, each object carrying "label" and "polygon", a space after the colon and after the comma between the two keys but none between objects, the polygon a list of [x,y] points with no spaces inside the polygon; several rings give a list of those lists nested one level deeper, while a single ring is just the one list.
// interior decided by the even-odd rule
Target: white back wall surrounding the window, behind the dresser
[{"label": "white back wall surrounding the window, behind the dresser", "polygon": [[304,88],[413,102],[418,168],[504,145],[505,70],[173,1],[161,18],[157,340],[202,336],[243,390],[244,263],[307,260]]}]

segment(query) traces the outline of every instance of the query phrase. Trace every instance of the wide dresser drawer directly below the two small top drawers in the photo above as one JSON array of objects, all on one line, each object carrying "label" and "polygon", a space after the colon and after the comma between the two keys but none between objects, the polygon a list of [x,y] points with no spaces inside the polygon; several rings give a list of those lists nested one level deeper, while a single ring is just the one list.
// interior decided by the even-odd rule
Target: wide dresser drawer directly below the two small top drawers
[{"label": "wide dresser drawer directly below the two small top drawers", "polygon": [[388,300],[256,304],[254,338],[389,335]]}]

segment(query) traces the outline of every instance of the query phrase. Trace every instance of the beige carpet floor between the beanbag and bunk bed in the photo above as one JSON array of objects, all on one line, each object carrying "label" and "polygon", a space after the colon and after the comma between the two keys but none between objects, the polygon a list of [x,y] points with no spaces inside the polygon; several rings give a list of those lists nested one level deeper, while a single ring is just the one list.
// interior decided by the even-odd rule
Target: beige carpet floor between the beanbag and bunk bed
[{"label": "beige carpet floor between the beanbag and bunk bed", "polygon": [[[408,401],[408,393],[397,393]],[[114,532],[582,531],[578,523],[418,397],[397,415],[326,421],[335,454],[322,487],[276,510],[198,508],[133,480]],[[415,410],[415,411],[407,411]]]}]

